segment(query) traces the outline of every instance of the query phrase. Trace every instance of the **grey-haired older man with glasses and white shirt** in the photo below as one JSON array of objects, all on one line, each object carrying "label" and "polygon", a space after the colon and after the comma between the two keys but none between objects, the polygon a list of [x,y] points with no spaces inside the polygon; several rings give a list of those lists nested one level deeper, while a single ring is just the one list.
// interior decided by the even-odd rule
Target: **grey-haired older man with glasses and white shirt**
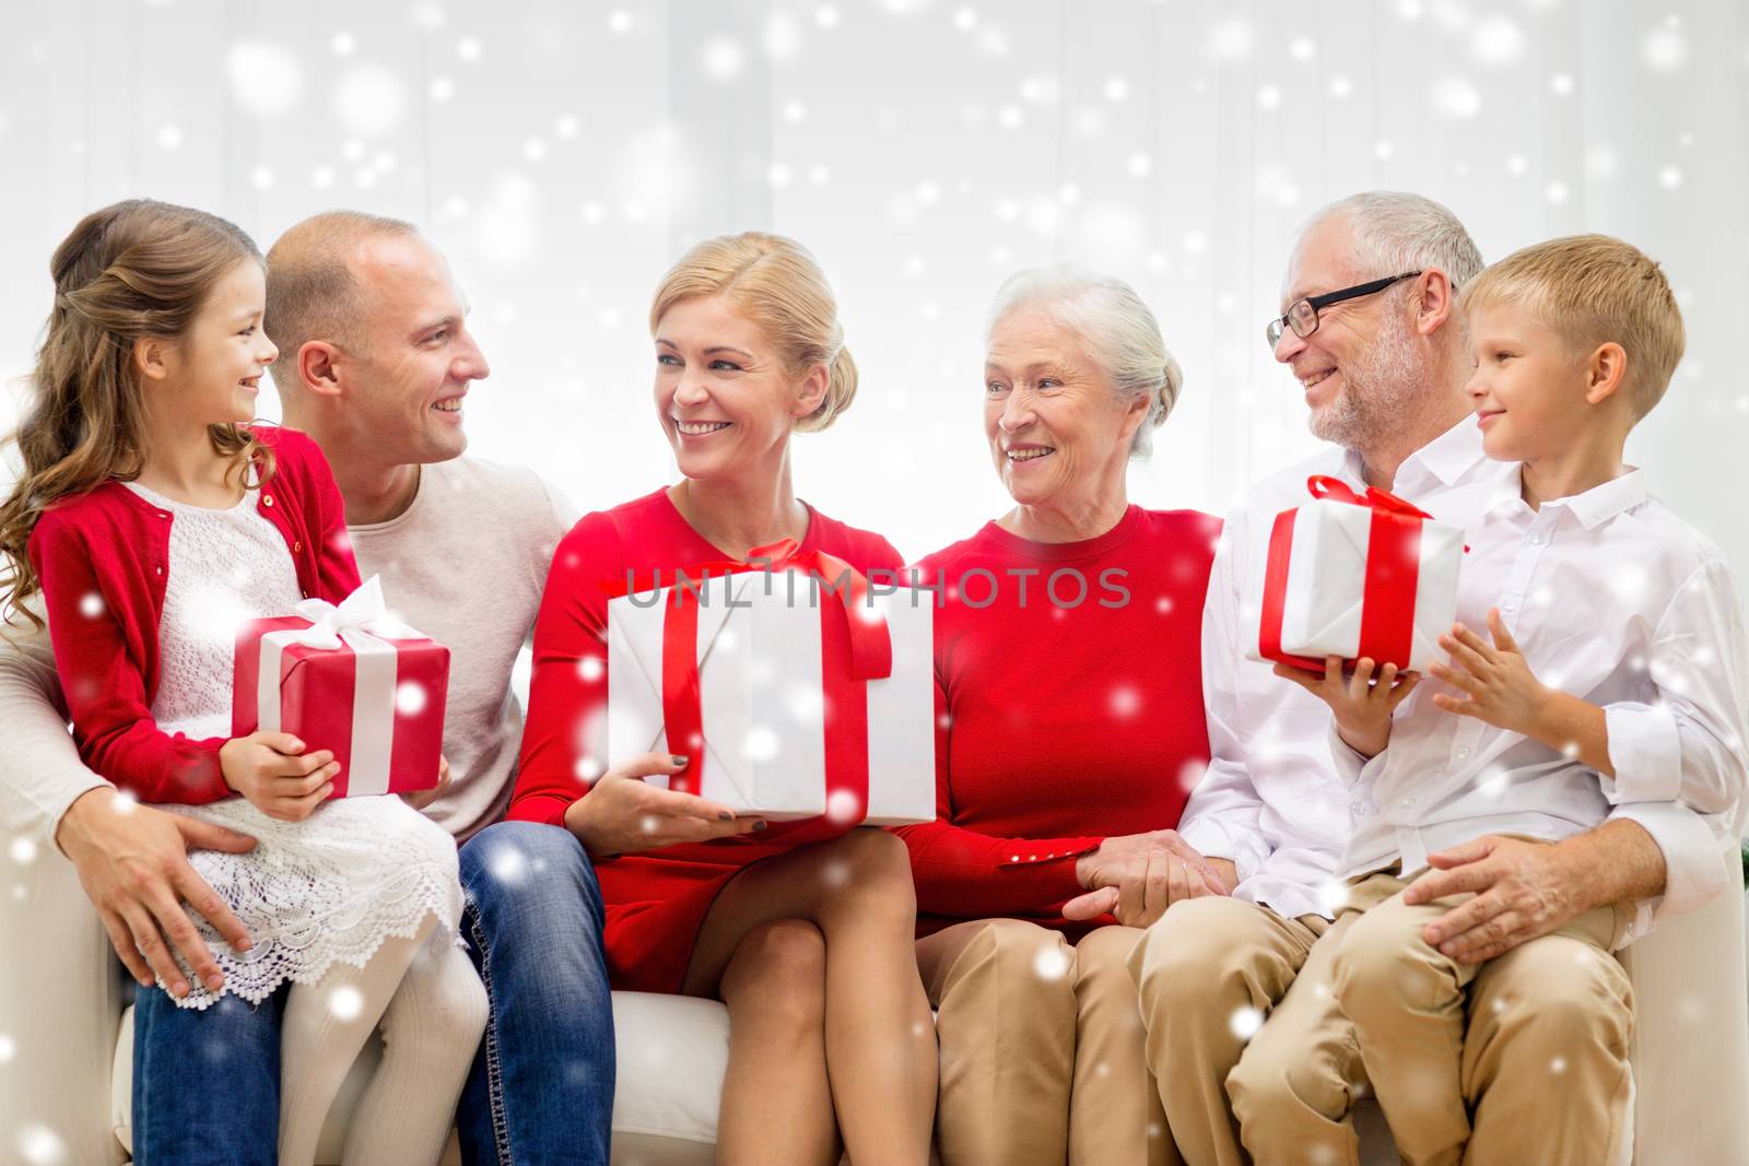
[{"label": "grey-haired older man with glasses and white shirt", "polygon": [[[1247,1150],[1259,1163],[1313,1152],[1357,1161],[1347,1110],[1364,1087],[1359,1058],[1313,1054],[1352,1047],[1322,1003],[1343,925],[1357,918],[1331,923],[1347,890],[1334,872],[1350,815],[1387,823],[1413,815],[1350,802],[1334,773],[1327,708],[1245,657],[1258,612],[1242,594],[1254,589],[1247,582],[1261,572],[1273,516],[1310,500],[1312,474],[1390,489],[1457,524],[1516,481],[1516,463],[1483,455],[1464,393],[1473,365],[1455,292],[1480,271],[1474,243],[1446,208],[1397,192],[1326,206],[1289,262],[1270,341],[1305,390],[1312,432],[1334,448],[1259,482],[1228,517],[1203,610],[1212,760],[1179,825],[1200,853],[1231,858],[1242,881],[1231,897],[1174,904],[1130,960],[1167,1122],[1191,1166],[1237,1166]],[[1679,802],[1635,802],[1551,844],[1490,836],[1422,855],[1404,837],[1415,860],[1403,865],[1406,876],[1432,867],[1408,890],[1413,902],[1474,892],[1429,925],[1427,940],[1480,963],[1614,902],[1637,902],[1616,946],[1644,935],[1655,916],[1718,892],[1726,832],[1723,820]],[[1564,988],[1490,979],[1471,1010],[1469,1047],[1487,1049],[1495,1066],[1513,1065],[1518,1040],[1543,1047],[1539,1024],[1558,1019],[1536,1002]],[[1508,1023],[1492,1005],[1515,993],[1523,1003]],[[1478,1072],[1471,1080],[1466,1101],[1480,1136],[1488,1086],[1515,1079]],[[1319,1131],[1317,1147],[1305,1142],[1308,1129]]]}]

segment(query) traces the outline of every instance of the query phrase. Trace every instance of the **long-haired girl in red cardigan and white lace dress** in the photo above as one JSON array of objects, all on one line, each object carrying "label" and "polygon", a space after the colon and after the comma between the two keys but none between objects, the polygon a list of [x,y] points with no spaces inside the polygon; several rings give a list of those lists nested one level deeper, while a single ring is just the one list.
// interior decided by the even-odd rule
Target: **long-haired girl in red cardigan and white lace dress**
[{"label": "long-haired girl in red cardigan and white lace dress", "polygon": [[17,432],[24,467],[0,505],[3,598],[17,607],[42,591],[86,764],[142,801],[257,839],[247,853],[191,855],[252,944],[233,953],[203,921],[222,975],[142,986],[136,1161],[194,1161],[178,1138],[198,1122],[168,1114],[185,1114],[177,1094],[199,1082],[166,1079],[145,1054],[164,1033],[212,1047],[222,1021],[198,1017],[234,995],[283,1007],[280,1163],[313,1161],[380,1021],[387,1054],[345,1161],[436,1163],[486,1007],[448,942],[462,906],[455,846],[399,797],[324,802],[338,773],[325,750],[285,732],[227,739],[238,621],[359,586],[320,451],[247,425],[278,355],[261,329],[261,252],[222,219],[136,199],[87,215],[52,274]]}]

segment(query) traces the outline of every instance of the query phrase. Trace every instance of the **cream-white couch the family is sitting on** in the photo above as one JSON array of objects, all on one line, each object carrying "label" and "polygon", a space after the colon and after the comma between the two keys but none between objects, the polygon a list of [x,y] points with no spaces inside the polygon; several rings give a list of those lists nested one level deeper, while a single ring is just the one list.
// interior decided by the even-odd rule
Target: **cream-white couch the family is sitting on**
[{"label": "cream-white couch the family is sitting on", "polygon": [[[47,839],[17,834],[9,816],[0,813],[0,1166],[122,1163],[133,1068],[126,977],[72,864]],[[1637,1166],[1749,1166],[1742,872],[1735,853],[1725,860],[1737,893],[1623,953],[1641,1009]],[[708,1164],[728,1061],[722,1005],[614,993],[614,1163]],[[338,1163],[374,1056],[366,1051],[336,1103],[320,1163]],[[1376,1108],[1362,1107],[1359,1122],[1366,1166],[1392,1163]],[[453,1145],[448,1161],[460,1161]]]}]

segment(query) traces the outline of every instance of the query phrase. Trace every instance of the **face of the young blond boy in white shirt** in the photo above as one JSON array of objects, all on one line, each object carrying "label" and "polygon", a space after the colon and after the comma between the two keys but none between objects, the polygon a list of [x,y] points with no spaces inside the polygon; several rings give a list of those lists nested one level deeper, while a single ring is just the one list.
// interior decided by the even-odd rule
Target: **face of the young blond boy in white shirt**
[{"label": "face of the young blond boy in white shirt", "polygon": [[1483,306],[1469,313],[1476,371],[1466,385],[1495,462],[1537,462],[1572,444],[1586,423],[1588,364],[1532,313]]}]

